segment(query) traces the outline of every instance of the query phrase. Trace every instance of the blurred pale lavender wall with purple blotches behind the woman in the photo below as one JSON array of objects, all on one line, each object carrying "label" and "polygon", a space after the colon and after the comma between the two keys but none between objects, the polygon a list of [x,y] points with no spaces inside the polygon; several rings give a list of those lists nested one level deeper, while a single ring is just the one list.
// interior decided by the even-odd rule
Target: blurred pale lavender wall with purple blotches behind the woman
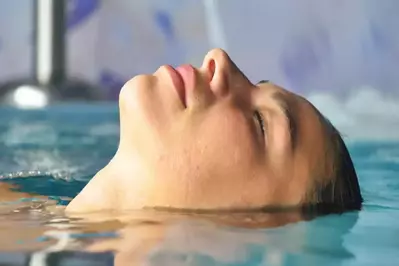
[{"label": "blurred pale lavender wall with purple blotches behind the woman", "polygon": [[[32,0],[1,0],[0,82],[32,73]],[[160,65],[224,48],[307,97],[349,137],[399,139],[399,1],[69,0],[67,70],[114,101]]]}]

